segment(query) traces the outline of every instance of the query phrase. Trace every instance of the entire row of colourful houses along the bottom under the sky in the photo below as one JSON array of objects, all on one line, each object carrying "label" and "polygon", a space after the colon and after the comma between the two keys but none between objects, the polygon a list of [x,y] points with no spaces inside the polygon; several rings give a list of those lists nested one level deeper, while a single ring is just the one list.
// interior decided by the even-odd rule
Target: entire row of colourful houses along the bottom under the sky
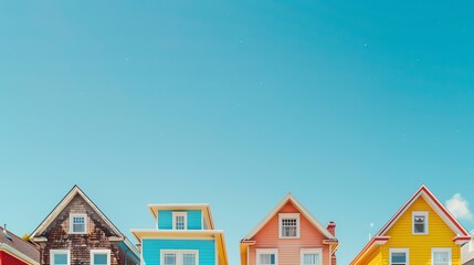
[{"label": "entire row of colourful houses along the bottom under the sky", "polygon": [[[75,186],[29,239],[0,227],[0,265],[228,265],[209,204],[149,204],[134,245]],[[336,224],[287,194],[241,242],[241,265],[336,265]],[[350,265],[473,265],[473,236],[422,186]]]}]

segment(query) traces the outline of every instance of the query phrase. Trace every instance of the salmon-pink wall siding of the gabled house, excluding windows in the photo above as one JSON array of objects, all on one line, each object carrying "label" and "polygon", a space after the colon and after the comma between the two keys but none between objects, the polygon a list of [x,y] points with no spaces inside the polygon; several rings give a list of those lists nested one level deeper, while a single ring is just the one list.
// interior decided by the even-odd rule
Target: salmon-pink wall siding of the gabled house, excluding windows
[{"label": "salmon-pink wall siding of the gabled house, excluding windows", "polygon": [[[288,201],[278,213],[299,213]],[[249,265],[256,265],[256,248],[278,248],[278,265],[299,265],[302,248],[322,248],[323,264],[329,265],[329,246],[323,244],[324,235],[303,215],[299,215],[299,239],[278,239],[278,213],[252,239],[249,246]]]}]

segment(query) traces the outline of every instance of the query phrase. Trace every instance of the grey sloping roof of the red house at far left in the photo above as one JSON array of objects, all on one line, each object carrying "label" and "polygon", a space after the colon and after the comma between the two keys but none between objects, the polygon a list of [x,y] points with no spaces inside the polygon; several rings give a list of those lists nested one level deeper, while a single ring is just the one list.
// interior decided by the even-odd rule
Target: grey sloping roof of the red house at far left
[{"label": "grey sloping roof of the red house at far left", "polygon": [[[10,235],[8,239],[4,233]],[[30,242],[0,226],[0,251],[6,251],[27,264],[40,264],[40,251]]]}]

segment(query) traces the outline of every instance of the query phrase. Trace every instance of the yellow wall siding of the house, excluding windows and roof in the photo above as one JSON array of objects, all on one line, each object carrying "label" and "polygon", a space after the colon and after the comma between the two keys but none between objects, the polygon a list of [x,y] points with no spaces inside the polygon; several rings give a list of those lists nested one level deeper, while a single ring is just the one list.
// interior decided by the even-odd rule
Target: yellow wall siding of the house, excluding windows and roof
[{"label": "yellow wall siding of the house, excluding windows and roof", "polygon": [[[429,234],[412,234],[412,212],[429,212]],[[451,247],[452,265],[461,265],[461,247],[453,243],[454,232],[444,223],[431,206],[420,197],[387,232],[389,242],[380,247],[382,265],[389,265],[389,248],[410,250],[410,264],[431,265],[432,247]]]}]

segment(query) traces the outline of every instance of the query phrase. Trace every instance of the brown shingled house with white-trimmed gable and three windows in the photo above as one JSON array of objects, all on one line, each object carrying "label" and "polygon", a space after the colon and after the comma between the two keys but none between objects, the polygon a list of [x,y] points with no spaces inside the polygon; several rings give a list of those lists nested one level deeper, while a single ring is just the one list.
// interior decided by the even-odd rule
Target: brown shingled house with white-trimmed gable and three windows
[{"label": "brown shingled house with white-trimmed gable and three windows", "polygon": [[31,234],[41,265],[136,265],[139,252],[77,187]]}]

